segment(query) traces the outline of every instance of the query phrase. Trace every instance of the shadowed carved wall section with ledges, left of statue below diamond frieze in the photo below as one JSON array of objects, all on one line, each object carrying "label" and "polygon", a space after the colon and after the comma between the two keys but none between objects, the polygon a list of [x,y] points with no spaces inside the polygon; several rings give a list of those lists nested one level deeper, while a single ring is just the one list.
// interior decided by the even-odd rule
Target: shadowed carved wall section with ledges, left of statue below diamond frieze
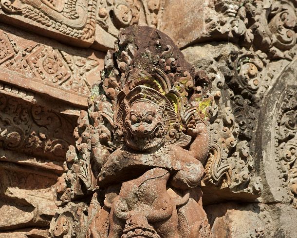
[{"label": "shadowed carved wall section with ledges, left of statue below diamond frieze", "polygon": [[76,118],[29,102],[25,93],[20,93],[23,99],[14,97],[16,88],[2,89],[0,237],[47,237],[57,209],[53,185],[64,171],[68,146],[74,144]]}]

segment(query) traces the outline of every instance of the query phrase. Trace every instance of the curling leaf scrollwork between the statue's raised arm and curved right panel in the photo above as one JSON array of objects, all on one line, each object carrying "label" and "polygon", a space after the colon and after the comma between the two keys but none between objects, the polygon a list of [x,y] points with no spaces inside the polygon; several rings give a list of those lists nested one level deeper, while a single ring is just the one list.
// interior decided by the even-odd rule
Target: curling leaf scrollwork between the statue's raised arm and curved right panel
[{"label": "curling leaf scrollwork between the statue's raised arm and curved right panel", "polygon": [[[248,143],[238,141],[238,132],[231,108],[220,110],[219,116],[211,124],[213,137],[204,183],[214,184],[220,189],[229,188],[233,197],[236,193],[247,193],[250,195],[246,195],[245,199],[252,199],[259,196],[261,179],[254,174],[254,159]],[[231,153],[233,149],[235,151]]]}]

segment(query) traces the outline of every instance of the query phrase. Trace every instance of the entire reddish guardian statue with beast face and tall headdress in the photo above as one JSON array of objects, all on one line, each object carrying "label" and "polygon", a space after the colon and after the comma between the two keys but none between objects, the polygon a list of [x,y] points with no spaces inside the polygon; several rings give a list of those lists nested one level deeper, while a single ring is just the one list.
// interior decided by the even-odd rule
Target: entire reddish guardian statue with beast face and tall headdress
[{"label": "entire reddish guardian statue with beast face and tall headdress", "polygon": [[[209,237],[198,187],[214,103],[204,72],[163,33],[134,26],[120,32],[101,77],[78,119],[57,204],[67,210],[93,194],[87,237]],[[61,216],[53,237],[62,236]]]}]

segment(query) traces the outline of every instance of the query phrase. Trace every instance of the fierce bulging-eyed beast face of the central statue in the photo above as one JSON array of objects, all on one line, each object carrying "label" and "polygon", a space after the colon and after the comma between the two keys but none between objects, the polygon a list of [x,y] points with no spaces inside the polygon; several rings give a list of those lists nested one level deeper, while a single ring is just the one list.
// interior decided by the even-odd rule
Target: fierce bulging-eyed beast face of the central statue
[{"label": "fierce bulging-eyed beast face of the central statue", "polygon": [[165,143],[167,130],[164,119],[165,103],[160,105],[148,99],[125,101],[126,118],[124,136],[126,144],[134,150],[148,150]]}]

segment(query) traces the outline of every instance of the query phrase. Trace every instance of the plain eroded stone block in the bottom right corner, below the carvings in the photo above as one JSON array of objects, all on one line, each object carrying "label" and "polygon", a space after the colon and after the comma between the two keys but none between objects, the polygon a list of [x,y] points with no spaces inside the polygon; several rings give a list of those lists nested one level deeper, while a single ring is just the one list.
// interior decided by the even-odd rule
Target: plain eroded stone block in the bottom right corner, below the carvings
[{"label": "plain eroded stone block in the bottom right corner, below the carvings", "polygon": [[[205,207],[213,238],[296,236],[297,211],[284,204],[221,203]],[[285,215],[286,214],[286,215]],[[247,223],[248,221],[248,223]]]}]

